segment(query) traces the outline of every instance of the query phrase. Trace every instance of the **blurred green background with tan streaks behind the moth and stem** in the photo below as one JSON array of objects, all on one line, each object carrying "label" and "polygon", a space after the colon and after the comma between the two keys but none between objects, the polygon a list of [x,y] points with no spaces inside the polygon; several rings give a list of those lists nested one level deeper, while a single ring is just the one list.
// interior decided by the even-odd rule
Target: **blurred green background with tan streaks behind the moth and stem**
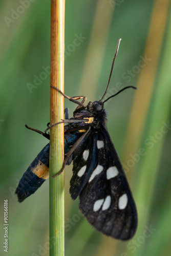
[{"label": "blurred green background with tan streaks behind the moth and stem", "polygon": [[[46,256],[51,246],[49,182],[21,204],[14,193],[48,143],[25,123],[44,131],[49,122],[50,1],[1,0],[0,13],[1,255],[6,255],[3,205],[8,199],[9,255]],[[137,204],[136,236],[121,242],[90,227],[79,214],[78,200],[70,198],[68,166],[66,255],[170,254],[170,14],[168,0],[66,2],[65,93],[100,99],[119,38],[108,96],[118,84],[139,88],[106,103],[108,130]],[[75,104],[65,100],[65,107],[72,116]]]}]

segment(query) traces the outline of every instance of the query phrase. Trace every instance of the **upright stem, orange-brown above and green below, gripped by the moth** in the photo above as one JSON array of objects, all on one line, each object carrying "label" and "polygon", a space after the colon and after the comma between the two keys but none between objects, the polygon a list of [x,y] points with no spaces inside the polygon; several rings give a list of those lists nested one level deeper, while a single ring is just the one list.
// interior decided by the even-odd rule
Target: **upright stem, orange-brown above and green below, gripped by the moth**
[{"label": "upright stem, orange-brown above and green below, gripped by the moth", "polygon": [[[64,91],[65,1],[51,0],[50,86]],[[50,88],[50,124],[63,119],[63,96]],[[56,178],[63,163],[63,124],[50,130],[50,256],[64,255],[64,172]]]}]

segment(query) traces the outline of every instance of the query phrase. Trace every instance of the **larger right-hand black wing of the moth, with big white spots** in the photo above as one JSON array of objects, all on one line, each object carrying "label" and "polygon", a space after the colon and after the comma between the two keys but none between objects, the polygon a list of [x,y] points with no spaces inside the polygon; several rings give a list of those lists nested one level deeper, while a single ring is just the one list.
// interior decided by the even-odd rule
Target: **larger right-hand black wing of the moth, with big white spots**
[{"label": "larger right-hand black wing of the moth, with big white spots", "polygon": [[79,208],[98,231],[128,240],[137,228],[137,210],[116,150],[103,125],[94,142],[98,161],[80,193]]}]

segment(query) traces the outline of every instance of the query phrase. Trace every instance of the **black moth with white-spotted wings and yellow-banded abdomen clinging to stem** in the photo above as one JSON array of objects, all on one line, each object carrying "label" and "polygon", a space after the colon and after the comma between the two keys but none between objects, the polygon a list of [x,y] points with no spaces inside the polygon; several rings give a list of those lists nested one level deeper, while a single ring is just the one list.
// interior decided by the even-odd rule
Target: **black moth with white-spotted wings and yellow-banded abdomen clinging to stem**
[{"label": "black moth with white-spotted wings and yellow-banded abdomen clinging to stem", "polygon": [[[104,109],[104,103],[127,88],[137,88],[125,87],[103,101],[109,87],[120,40],[113,58],[108,84],[101,100],[85,105],[86,97],[68,97],[58,89],[54,89],[78,104],[73,117],[69,118],[68,109],[66,109],[66,120],[60,122],[68,124],[64,129],[65,160],[58,175],[66,164],[73,161],[70,194],[73,200],[79,197],[79,209],[82,215],[96,230],[106,236],[129,240],[136,232],[137,210],[123,167],[106,129],[108,113]],[[78,101],[81,98],[83,98],[82,102]],[[46,132],[28,128],[49,139],[49,134]],[[48,177],[49,143],[34,159],[19,181],[16,189],[18,201],[22,202],[33,194]]]}]

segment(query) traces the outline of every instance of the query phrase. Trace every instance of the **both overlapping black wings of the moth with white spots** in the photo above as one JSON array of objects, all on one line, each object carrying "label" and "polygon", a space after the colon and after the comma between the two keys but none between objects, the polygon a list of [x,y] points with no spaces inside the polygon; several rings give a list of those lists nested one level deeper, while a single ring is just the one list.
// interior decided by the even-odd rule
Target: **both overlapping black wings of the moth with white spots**
[{"label": "both overlapping black wings of the moth with white spots", "polygon": [[[89,153],[89,154],[88,154]],[[128,240],[137,228],[137,210],[108,131],[101,124],[73,157],[70,193],[88,222],[106,236]]]}]

